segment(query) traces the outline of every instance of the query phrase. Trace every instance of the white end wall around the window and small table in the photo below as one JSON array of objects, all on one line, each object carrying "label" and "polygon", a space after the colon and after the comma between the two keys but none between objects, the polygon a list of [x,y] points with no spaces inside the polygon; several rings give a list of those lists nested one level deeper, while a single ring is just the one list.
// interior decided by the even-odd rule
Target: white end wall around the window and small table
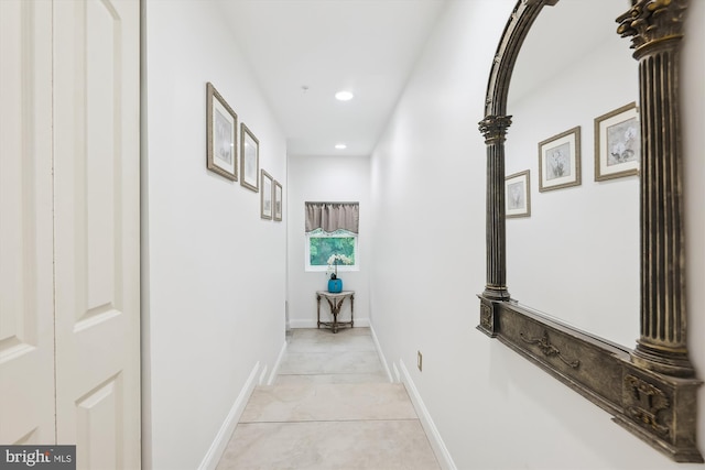
[{"label": "white end wall around the window and small table", "polygon": [[[316,291],[325,291],[325,272],[304,271],[306,237],[304,203],[346,201],[360,204],[358,236],[359,271],[338,272],[343,288],[355,291],[355,325],[369,326],[370,220],[369,156],[290,156],[288,179],[289,212],[289,324],[292,328],[316,327]],[[348,303],[339,319],[349,318]],[[327,305],[322,305],[322,320],[328,320]],[[325,317],[324,315],[327,315]]]}]

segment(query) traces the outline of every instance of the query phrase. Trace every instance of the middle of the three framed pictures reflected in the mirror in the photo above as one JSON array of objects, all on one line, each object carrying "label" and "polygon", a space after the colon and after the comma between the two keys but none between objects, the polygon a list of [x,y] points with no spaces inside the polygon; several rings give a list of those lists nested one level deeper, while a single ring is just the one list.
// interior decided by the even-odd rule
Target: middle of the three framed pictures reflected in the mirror
[{"label": "middle of the three framed pictures reflected in the mirror", "polygon": [[539,143],[539,190],[581,185],[581,127]]}]

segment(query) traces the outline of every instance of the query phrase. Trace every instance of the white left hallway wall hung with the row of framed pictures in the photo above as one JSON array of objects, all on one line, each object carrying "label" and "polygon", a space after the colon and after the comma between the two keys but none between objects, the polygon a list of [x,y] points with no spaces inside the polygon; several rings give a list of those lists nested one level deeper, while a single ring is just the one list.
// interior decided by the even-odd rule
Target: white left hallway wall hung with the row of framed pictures
[{"label": "white left hallway wall hung with the row of framed pictures", "polygon": [[258,193],[206,170],[206,83],[280,181],[286,149],[217,2],[145,12],[144,468],[194,469],[284,346],[288,217],[260,219]]}]

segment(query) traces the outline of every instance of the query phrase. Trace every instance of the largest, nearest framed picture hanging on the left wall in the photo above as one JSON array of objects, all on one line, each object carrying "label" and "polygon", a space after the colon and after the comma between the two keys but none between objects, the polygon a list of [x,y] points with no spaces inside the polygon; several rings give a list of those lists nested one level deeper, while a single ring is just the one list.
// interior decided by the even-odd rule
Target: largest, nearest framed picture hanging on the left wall
[{"label": "largest, nearest framed picture hanging on the left wall", "polygon": [[212,83],[206,85],[208,170],[228,179],[238,181],[238,116]]}]

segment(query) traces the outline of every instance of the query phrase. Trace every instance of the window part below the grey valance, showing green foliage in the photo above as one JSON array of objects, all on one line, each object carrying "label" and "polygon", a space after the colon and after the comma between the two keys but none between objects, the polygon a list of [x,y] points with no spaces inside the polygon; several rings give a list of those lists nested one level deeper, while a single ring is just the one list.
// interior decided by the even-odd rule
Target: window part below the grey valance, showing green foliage
[{"label": "window part below the grey valance, showing green foliage", "polygon": [[357,234],[347,230],[326,233],[316,229],[306,233],[306,271],[326,271],[333,254],[344,254],[351,264],[338,264],[338,271],[358,271]]}]

